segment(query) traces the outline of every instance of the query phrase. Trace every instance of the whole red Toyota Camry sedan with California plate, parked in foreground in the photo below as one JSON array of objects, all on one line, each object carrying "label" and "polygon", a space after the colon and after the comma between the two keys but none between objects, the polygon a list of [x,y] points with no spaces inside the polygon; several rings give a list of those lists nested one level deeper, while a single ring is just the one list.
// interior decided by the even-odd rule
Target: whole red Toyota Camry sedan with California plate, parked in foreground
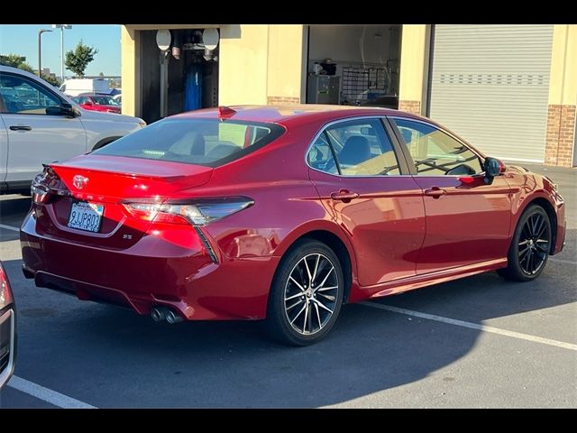
[{"label": "whole red Toyota Camry sedan with California plate, parked in foreground", "polygon": [[553,181],[417,115],[234,106],[175,115],[32,183],[23,272],[169,323],[265,319],[326,336],[343,302],[497,270],[536,279],[563,248]]}]

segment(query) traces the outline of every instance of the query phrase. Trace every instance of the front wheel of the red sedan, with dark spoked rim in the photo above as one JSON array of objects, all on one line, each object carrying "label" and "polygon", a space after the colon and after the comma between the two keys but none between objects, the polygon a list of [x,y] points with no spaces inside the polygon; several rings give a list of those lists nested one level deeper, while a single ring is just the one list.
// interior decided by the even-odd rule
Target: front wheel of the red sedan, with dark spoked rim
[{"label": "front wheel of the red sedan, with dark spoked rim", "polygon": [[533,281],[545,269],[553,231],[543,207],[529,205],[519,218],[508,249],[508,266],[499,275],[511,281]]}]

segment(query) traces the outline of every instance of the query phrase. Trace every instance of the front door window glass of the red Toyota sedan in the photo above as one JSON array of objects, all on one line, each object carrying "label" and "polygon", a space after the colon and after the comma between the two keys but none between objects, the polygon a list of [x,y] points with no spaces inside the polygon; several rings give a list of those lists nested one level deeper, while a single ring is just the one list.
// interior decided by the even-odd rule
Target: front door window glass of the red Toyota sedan
[{"label": "front door window glass of the red Toyota sedan", "polygon": [[481,160],[463,143],[430,124],[394,119],[408,147],[417,175],[472,175],[481,173]]}]

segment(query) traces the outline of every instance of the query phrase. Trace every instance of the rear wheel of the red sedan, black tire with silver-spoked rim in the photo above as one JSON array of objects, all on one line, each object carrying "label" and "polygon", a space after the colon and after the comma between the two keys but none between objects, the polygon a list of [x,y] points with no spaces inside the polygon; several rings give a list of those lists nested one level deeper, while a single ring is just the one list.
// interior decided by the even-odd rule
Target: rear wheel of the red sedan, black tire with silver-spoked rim
[{"label": "rear wheel of the red sedan, black tire with silver-spoked rim", "polygon": [[270,286],[265,330],[286,345],[312,345],[334,326],[343,293],[343,270],[333,250],[299,241],[285,253]]}]

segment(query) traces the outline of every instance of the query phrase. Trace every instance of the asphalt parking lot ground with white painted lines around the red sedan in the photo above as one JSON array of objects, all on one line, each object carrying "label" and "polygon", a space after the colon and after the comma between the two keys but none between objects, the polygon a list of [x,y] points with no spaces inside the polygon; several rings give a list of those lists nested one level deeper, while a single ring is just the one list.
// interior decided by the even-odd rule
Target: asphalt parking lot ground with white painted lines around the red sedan
[{"label": "asphalt parking lot ground with white painted lines around the red sedan", "polygon": [[537,281],[490,272],[346,306],[330,336],[302,348],[269,342],[259,323],[170,326],[35,288],[17,232],[29,198],[0,197],[19,313],[0,407],[575,408],[577,170],[534,169],[559,184],[568,228]]}]

